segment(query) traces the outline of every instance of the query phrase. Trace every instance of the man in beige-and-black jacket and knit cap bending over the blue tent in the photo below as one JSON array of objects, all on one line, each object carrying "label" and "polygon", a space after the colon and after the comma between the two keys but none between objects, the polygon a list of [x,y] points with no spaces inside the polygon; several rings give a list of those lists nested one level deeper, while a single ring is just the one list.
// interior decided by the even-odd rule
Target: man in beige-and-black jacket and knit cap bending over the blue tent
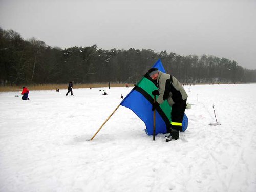
[{"label": "man in beige-and-black jacket and knit cap bending over the blue tent", "polygon": [[[182,120],[186,109],[187,93],[181,83],[172,75],[163,73],[157,68],[148,70],[148,75],[157,81],[158,90],[152,92],[153,95],[158,95],[156,102],[153,104],[152,111],[167,100],[172,107],[170,114],[172,121],[170,122],[170,135],[166,139],[179,139],[179,132],[182,131]],[[170,138],[171,137],[171,138]]]}]

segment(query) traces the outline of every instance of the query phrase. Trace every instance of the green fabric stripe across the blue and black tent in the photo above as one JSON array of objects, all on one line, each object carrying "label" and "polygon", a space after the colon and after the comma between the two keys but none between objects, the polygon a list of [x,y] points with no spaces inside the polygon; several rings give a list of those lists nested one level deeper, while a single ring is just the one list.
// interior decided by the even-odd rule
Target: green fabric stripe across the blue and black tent
[{"label": "green fabric stripe across the blue and black tent", "polygon": [[[158,89],[154,83],[152,83],[150,80],[148,80],[145,77],[142,78],[140,82],[138,82],[137,86],[145,90],[148,93],[148,95],[150,95],[152,98],[154,98],[154,95],[152,95],[152,91],[155,89]],[[157,98],[158,96],[156,96],[156,99]],[[165,100],[162,104],[160,104],[160,108],[163,110],[164,114],[169,119],[169,121],[171,121],[170,112],[172,111],[172,108],[170,107],[167,100]]]}]

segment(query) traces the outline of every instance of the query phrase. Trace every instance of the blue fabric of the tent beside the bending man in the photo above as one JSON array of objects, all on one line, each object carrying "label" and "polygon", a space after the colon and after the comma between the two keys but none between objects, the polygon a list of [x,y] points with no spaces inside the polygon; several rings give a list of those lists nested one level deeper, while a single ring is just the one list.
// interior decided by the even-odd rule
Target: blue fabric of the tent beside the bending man
[{"label": "blue fabric of the tent beside the bending man", "polygon": [[[158,68],[159,71],[165,73],[164,67],[160,59],[155,63],[153,68]],[[148,95],[148,93],[142,88],[135,86],[133,90],[120,103],[120,105],[131,109],[145,123],[146,133],[148,135],[153,135],[153,111],[151,110],[153,102],[154,101],[152,96]],[[185,131],[187,129],[187,125],[188,118],[184,114],[182,121],[182,131]],[[156,110],[156,134],[167,133],[169,127],[170,122],[166,115],[161,111],[161,109],[159,111]]]}]

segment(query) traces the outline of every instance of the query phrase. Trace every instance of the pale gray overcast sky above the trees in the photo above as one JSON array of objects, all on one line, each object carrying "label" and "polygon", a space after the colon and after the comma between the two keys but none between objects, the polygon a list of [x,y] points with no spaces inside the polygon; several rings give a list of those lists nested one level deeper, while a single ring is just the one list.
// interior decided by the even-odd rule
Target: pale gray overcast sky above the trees
[{"label": "pale gray overcast sky above the trees", "polygon": [[256,0],[0,0],[0,27],[52,47],[206,54],[256,69]]}]

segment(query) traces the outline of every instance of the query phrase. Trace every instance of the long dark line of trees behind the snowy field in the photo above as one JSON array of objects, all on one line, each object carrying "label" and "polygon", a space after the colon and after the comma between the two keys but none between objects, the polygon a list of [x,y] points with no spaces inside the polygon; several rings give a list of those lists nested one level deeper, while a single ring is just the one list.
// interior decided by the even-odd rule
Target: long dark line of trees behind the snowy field
[{"label": "long dark line of trees behind the snowy field", "polygon": [[151,49],[119,50],[91,47],[61,49],[43,41],[24,40],[0,28],[1,84],[135,83],[159,59],[167,73],[182,83],[256,82],[256,70],[215,56],[181,56]]}]

